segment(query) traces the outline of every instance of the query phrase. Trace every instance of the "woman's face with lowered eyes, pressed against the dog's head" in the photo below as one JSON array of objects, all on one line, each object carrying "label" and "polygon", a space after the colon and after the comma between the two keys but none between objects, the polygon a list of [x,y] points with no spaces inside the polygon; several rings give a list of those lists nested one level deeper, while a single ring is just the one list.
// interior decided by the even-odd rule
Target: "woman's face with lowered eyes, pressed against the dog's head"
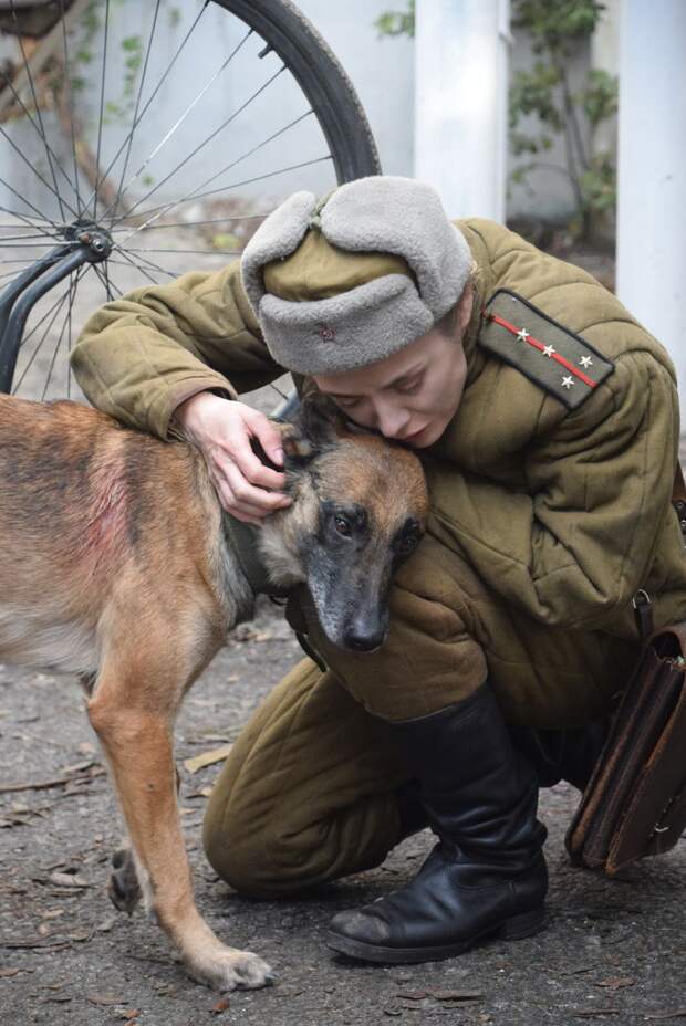
[{"label": "woman's face with lowered eyes, pressed against the dog's head", "polygon": [[319,389],[361,427],[413,449],[432,446],[462,398],[467,376],[462,336],[472,303],[468,286],[457,304],[451,335],[434,327],[377,364],[342,374],[316,374]]}]

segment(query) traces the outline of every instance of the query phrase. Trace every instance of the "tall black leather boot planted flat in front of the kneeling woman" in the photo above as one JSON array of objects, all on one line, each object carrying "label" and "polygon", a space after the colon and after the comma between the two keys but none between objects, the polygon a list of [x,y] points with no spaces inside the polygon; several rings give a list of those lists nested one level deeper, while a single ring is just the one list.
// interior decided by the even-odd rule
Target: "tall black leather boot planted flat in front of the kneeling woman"
[{"label": "tall black leather boot planted flat in front of the kneeling woman", "polygon": [[490,934],[536,933],[548,890],[538,775],[512,747],[488,684],[394,727],[439,844],[412,883],[335,915],[329,946],[370,962],[432,962]]}]

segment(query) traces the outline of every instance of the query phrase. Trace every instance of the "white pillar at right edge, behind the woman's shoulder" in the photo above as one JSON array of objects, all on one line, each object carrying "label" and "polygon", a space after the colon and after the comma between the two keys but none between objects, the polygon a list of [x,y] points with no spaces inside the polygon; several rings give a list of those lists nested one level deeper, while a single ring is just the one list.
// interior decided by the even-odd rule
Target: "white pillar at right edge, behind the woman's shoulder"
[{"label": "white pillar at right edge, behind the woman's shoulder", "polygon": [[617,295],[669,349],[684,412],[686,3],[623,0],[621,17]]}]

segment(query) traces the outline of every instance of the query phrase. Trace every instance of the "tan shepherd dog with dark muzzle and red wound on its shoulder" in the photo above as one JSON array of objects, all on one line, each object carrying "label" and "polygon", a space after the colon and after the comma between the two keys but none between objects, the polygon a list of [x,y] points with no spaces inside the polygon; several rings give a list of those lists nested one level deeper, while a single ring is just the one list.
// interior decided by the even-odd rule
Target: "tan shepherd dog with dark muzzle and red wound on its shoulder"
[{"label": "tan shepherd dog with dark muzzle and red wound on its shoulder", "polygon": [[[321,399],[282,431],[293,502],[259,528],[266,566],[308,584],[334,645],[376,648],[426,521],[419,461]],[[83,683],[128,834],[111,897],[131,912],[143,896],[199,982],[263,986],[269,966],[196,909],[177,808],[177,710],[254,601],[200,452],[75,402],[0,396],[0,661]]]}]

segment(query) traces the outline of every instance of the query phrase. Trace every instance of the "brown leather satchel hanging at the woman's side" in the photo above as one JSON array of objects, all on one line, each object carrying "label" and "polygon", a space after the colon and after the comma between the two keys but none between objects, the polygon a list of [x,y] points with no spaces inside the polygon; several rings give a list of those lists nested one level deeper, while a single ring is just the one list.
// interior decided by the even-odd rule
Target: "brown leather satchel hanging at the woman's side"
[{"label": "brown leather satchel hanging at the woman's side", "polygon": [[[686,537],[680,468],[673,504]],[[573,862],[607,876],[668,851],[686,829],[686,620],[653,632],[645,591],[634,608],[641,659],[565,838]]]}]

